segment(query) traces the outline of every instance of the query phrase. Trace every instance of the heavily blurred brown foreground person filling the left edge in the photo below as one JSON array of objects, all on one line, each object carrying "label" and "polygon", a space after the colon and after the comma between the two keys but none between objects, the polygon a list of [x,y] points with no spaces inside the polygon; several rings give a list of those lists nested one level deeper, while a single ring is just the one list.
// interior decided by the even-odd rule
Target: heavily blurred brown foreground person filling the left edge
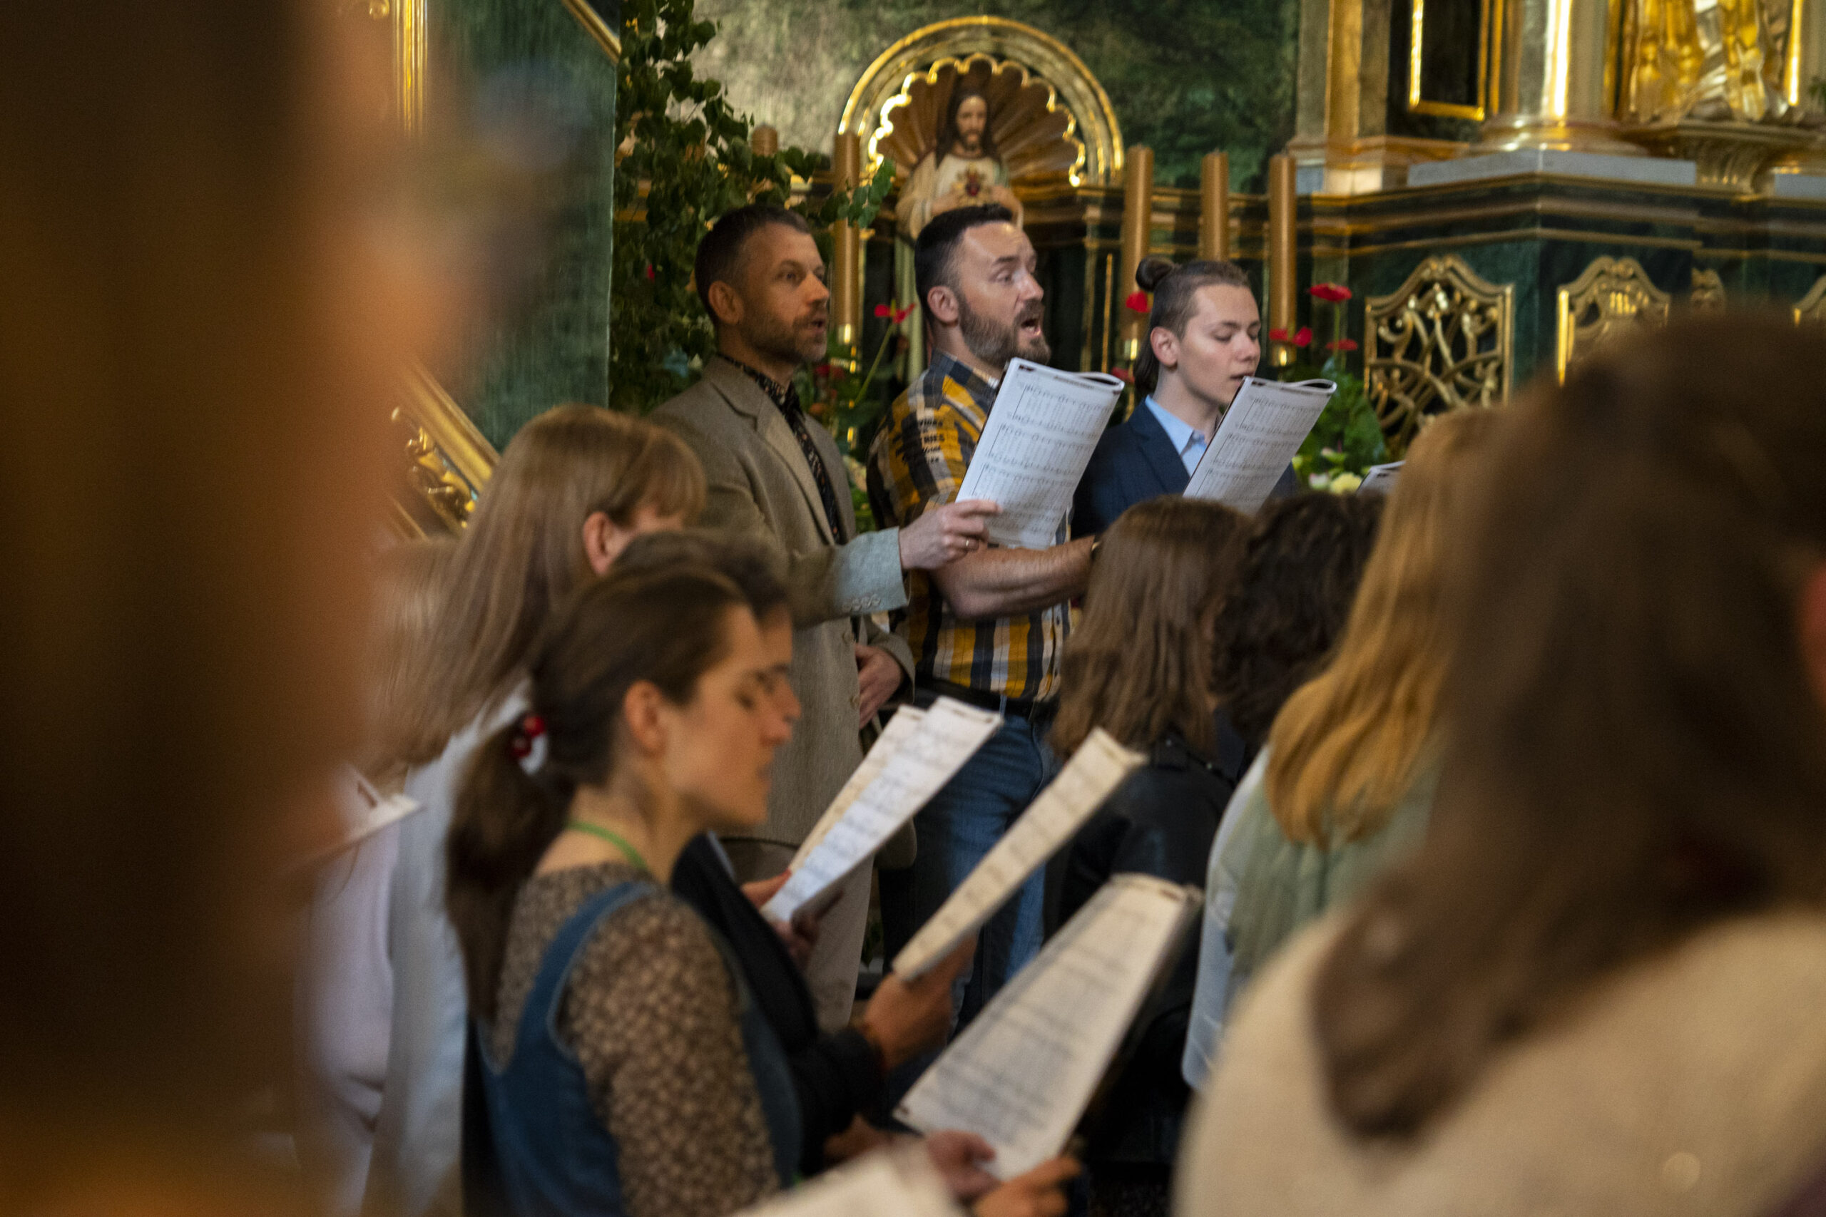
[{"label": "heavily blurred brown foreground person filling the left edge", "polygon": [[451,283],[334,5],[0,5],[0,1206],[281,1212],[292,863],[356,750],[363,555]]}]

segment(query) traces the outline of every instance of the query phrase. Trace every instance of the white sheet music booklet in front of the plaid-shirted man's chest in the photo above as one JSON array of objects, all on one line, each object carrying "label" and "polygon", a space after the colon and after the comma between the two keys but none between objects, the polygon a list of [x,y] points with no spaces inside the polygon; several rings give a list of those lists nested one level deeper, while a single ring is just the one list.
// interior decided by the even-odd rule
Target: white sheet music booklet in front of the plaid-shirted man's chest
[{"label": "white sheet music booklet in front of the plaid-shirted man's chest", "polygon": [[1127,385],[1103,372],[1061,372],[1010,359],[957,498],[993,498],[997,546],[1046,549],[1072,507],[1110,411]]}]

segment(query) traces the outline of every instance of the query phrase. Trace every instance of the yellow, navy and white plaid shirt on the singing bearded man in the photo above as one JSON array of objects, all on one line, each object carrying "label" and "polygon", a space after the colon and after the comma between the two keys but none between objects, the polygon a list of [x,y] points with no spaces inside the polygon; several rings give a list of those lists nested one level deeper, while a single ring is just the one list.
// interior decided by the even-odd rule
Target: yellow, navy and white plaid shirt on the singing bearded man
[{"label": "yellow, navy and white plaid shirt on the singing bearded man", "polygon": [[[869,451],[869,507],[882,527],[908,525],[957,498],[964,469],[990,421],[995,385],[968,363],[935,352],[924,376],[887,409]],[[1057,544],[1068,540],[1061,522]],[[950,681],[1002,697],[1059,692],[1059,648],[1068,613],[1054,604],[1026,617],[959,620],[926,571],[908,573],[908,606],[895,631],[913,650],[917,681]]]}]

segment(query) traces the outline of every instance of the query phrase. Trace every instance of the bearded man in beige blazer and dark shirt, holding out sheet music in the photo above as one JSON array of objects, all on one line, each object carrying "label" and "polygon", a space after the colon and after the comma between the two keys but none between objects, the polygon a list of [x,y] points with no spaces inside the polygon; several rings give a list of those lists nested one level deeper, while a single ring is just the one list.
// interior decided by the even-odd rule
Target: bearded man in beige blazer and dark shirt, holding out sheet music
[{"label": "bearded man in beige blazer and dark shirt, holding out sheet music", "polygon": [[[913,679],[906,642],[871,613],[908,602],[902,571],[937,569],[982,546],[993,504],[948,504],[908,527],[856,535],[849,478],[809,418],[792,372],[825,358],[831,294],[805,221],[774,206],[727,213],[698,248],[698,296],[719,354],[654,421],[703,462],[710,527],[760,536],[785,560],[792,597],[792,692],[802,717],[774,755],[767,823],[723,841],[736,878],[778,876],[862,761],[858,732]],[[805,965],[818,1022],[847,1025],[867,920],[869,867],[844,883]]]}]

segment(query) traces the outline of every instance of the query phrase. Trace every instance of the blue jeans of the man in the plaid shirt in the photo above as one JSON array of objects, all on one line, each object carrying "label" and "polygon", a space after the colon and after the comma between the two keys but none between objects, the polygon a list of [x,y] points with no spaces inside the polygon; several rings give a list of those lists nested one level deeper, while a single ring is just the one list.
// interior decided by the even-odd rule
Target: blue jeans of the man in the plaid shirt
[{"label": "blue jeans of the man in the plaid shirt", "polygon": [[[1046,746],[1050,730],[1050,713],[1035,721],[1008,715],[995,735],[913,817],[918,825],[911,876],[915,929],[939,910],[946,896],[1059,772],[1059,763]],[[970,971],[957,978],[951,994],[955,1025],[962,1027],[975,1018],[1008,978],[1039,954],[1044,892],[1046,874],[1039,870],[982,927]]]}]

